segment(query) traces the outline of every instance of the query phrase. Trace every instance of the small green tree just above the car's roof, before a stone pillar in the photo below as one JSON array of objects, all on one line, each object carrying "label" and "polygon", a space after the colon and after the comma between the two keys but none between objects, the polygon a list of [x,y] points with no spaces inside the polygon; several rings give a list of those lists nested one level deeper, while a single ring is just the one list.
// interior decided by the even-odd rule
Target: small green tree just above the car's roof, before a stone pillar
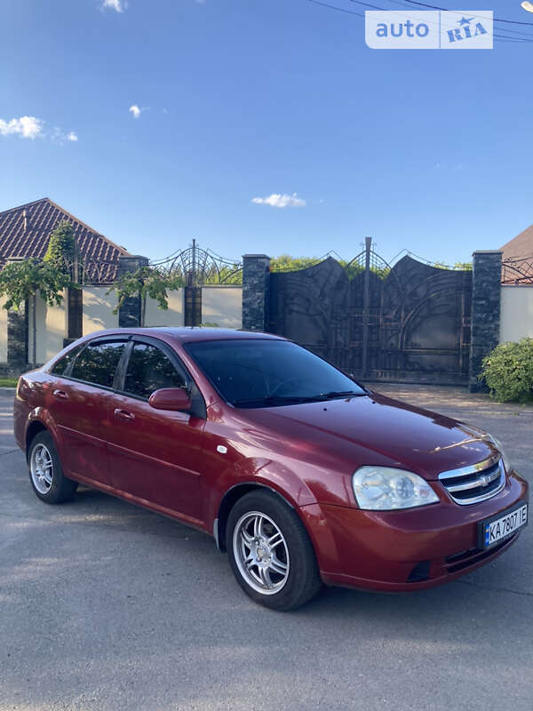
[{"label": "small green tree just above the car's roof, before a stone pillar", "polygon": [[126,299],[139,296],[142,303],[141,325],[145,323],[147,310],[147,298],[155,299],[158,308],[164,311],[169,308],[168,292],[179,289],[185,282],[179,275],[171,276],[158,271],[153,267],[139,267],[134,272],[126,272],[113,286],[107,289],[107,293],[115,292],[117,305],[113,313],[123,306]]}]

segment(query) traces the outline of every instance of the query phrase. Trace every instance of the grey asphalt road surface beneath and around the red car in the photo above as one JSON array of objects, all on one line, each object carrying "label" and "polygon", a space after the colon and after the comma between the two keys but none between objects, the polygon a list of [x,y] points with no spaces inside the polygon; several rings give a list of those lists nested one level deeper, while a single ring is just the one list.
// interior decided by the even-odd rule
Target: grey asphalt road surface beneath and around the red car
[{"label": "grey asphalt road surface beneath and around the red car", "polygon": [[[381,389],[488,428],[533,483],[533,408]],[[267,611],[202,533],[89,489],[36,499],[11,406],[0,396],[2,711],[533,708],[533,526],[444,587]]]}]

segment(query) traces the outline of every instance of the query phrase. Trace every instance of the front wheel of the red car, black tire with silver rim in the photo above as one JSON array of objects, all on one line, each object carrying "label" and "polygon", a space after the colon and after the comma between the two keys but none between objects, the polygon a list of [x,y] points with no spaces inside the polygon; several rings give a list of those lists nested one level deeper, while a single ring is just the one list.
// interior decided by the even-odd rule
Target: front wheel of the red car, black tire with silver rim
[{"label": "front wheel of the red car, black tire with silver rim", "polygon": [[[245,494],[231,509],[226,531],[232,571],[256,603],[272,610],[294,610],[320,590],[318,565],[304,524],[276,494]],[[275,543],[276,539],[279,542]],[[267,579],[262,579],[265,569]],[[267,591],[268,583],[271,587]]]}]

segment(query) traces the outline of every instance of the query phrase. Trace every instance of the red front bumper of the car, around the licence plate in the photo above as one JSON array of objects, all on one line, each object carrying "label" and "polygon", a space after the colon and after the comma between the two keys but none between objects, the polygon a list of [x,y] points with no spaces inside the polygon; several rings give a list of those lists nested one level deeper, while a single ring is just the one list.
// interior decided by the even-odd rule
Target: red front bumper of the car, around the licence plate
[{"label": "red front bumper of the car, around the licence plate", "polygon": [[528,499],[515,472],[496,496],[459,506],[442,493],[438,504],[398,511],[311,504],[299,513],[328,585],[407,591],[440,585],[489,563],[520,535],[478,547],[477,524]]}]

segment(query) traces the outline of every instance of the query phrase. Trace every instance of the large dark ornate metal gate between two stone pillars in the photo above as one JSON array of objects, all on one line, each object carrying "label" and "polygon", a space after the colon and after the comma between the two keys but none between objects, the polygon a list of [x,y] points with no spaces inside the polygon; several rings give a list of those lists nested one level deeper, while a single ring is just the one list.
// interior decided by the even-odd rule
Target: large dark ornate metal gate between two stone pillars
[{"label": "large dark ornate metal gate between two stone pillars", "polygon": [[272,273],[269,330],[356,377],[463,384],[471,293],[472,272],[410,256],[391,268],[367,238],[346,268],[329,257]]}]

